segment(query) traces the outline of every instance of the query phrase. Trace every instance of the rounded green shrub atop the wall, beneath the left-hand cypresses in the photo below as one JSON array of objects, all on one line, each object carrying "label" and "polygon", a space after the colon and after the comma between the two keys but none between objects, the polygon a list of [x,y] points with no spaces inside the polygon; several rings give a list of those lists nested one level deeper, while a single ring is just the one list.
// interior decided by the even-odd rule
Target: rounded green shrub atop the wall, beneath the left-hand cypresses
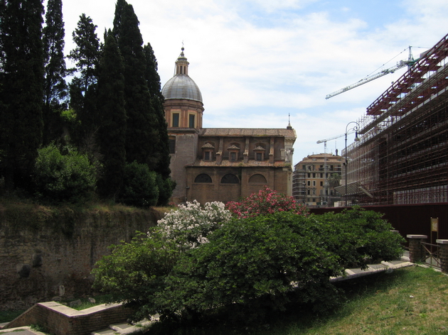
[{"label": "rounded green shrub atop the wall, beneath the left-hand cypresses", "polygon": [[82,202],[95,191],[95,167],[86,155],[53,144],[38,150],[33,182],[36,196],[55,202]]}]

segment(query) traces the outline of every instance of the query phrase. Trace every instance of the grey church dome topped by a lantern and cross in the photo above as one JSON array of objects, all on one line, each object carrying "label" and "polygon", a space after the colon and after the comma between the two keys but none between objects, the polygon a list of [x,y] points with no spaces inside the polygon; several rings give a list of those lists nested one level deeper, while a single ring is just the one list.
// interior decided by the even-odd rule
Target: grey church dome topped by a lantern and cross
[{"label": "grey church dome topped by a lantern and cross", "polygon": [[181,55],[176,60],[176,75],[164,84],[161,91],[166,100],[187,99],[203,102],[201,90],[188,76],[188,64],[182,48]]}]

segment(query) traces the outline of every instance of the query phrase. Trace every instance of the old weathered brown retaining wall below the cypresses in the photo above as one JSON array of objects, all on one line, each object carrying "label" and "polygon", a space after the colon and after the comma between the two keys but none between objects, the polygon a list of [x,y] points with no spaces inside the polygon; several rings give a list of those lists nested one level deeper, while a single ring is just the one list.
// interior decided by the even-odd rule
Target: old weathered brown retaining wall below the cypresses
[{"label": "old weathered brown retaining wall below the cypresses", "polygon": [[146,232],[161,216],[0,204],[0,310],[91,295],[90,272],[107,247]]}]

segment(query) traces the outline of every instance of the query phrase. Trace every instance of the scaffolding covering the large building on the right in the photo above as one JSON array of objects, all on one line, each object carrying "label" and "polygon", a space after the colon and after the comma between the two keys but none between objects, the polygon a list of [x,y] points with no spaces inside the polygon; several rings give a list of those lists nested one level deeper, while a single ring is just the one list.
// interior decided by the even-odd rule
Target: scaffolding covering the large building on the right
[{"label": "scaffolding covering the large building on the right", "polygon": [[351,203],[448,202],[447,60],[445,35],[368,106],[343,152]]}]

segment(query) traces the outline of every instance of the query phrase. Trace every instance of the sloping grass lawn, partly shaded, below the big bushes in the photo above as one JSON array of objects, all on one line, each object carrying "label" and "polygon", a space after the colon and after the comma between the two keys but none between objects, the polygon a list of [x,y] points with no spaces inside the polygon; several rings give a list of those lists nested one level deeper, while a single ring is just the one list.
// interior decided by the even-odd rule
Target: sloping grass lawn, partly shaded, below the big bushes
[{"label": "sloping grass lawn, partly shaded, below the big bushes", "polygon": [[[169,334],[448,334],[448,276],[442,273],[415,266],[346,280],[339,285],[346,291],[347,301],[328,315],[316,316],[293,307],[273,322],[253,327],[238,329],[220,322],[220,326],[178,327]],[[160,328],[154,327],[147,334],[166,334]]]}]

